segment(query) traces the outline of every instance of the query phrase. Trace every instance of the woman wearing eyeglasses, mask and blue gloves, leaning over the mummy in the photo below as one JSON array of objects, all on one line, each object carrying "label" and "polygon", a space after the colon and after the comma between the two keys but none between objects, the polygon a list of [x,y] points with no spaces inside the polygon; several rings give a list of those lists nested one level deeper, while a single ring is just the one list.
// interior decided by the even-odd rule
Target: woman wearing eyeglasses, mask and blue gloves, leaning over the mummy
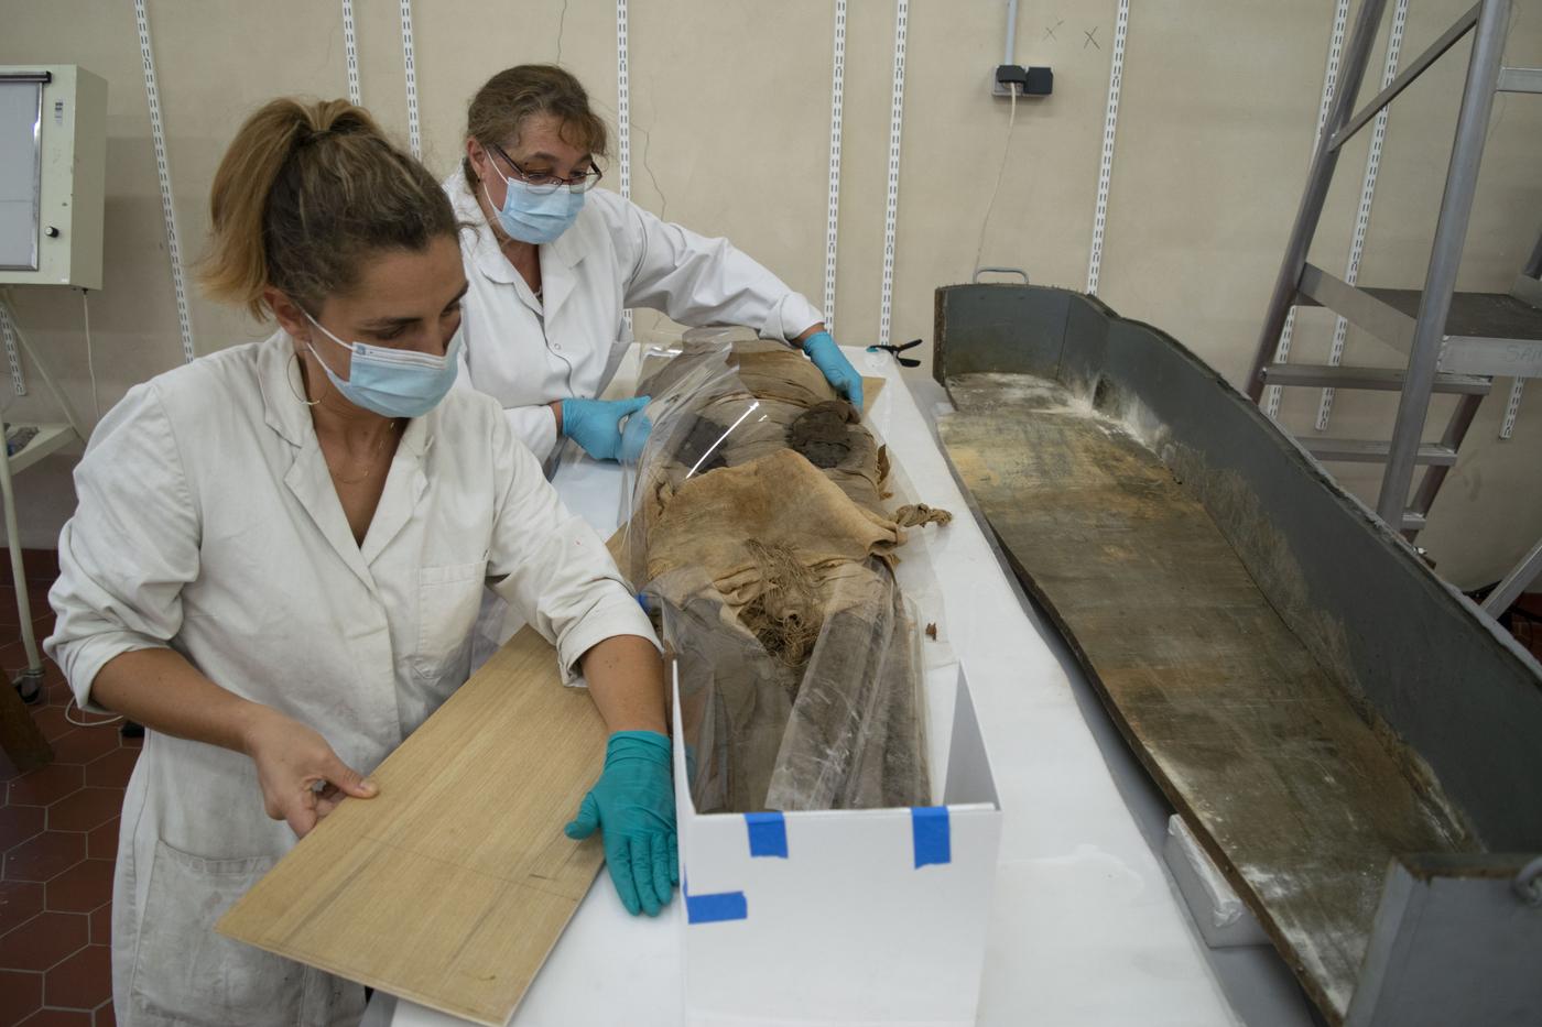
[{"label": "woman wearing eyeglasses, mask and blue gloves, leaning over the mummy", "polygon": [[862,407],[862,378],[813,304],[726,239],[594,188],[604,153],[606,128],[583,85],[552,65],[520,65],[472,99],[466,159],[444,182],[456,214],[476,227],[461,233],[470,281],[461,379],[503,404],[538,460],[560,438],[595,460],[621,456],[621,423],[646,398],[595,396],[631,341],[628,307],[785,339]]}]

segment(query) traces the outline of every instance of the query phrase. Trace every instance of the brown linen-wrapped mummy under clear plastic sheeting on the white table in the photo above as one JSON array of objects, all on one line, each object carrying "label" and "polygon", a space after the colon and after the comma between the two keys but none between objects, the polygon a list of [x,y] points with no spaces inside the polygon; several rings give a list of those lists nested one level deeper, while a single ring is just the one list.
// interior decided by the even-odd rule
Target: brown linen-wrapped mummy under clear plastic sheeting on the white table
[{"label": "brown linen-wrapped mummy under clear plastic sheeting on the white table", "polygon": [[894,564],[904,524],[947,514],[887,509],[884,447],[782,344],[691,338],[638,393],[623,564],[678,660],[697,810],[928,805]]}]

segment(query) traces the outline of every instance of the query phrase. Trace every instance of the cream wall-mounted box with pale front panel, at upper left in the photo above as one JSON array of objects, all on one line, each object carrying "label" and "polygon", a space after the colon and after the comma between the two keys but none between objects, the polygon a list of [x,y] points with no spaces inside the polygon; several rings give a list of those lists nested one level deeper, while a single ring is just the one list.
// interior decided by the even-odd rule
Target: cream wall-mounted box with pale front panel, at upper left
[{"label": "cream wall-mounted box with pale front panel, at upper left", "polygon": [[102,288],[106,82],[0,65],[0,285]]}]

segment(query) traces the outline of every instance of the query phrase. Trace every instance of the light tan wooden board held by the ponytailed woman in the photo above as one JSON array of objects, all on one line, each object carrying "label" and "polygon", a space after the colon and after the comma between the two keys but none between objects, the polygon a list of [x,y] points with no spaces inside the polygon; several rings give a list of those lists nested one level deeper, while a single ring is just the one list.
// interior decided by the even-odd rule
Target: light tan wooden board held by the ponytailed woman
[{"label": "light tan wooden board held by the ponytailed woman", "polygon": [[219,921],[237,941],[500,1027],[604,862],[563,825],[604,756],[524,628]]}]

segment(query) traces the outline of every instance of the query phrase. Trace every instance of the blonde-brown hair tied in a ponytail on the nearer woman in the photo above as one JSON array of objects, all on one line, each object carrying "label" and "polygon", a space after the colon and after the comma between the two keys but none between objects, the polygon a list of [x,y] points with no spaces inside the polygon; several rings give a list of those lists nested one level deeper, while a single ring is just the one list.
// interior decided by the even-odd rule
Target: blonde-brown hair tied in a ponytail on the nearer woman
[{"label": "blonde-brown hair tied in a ponytail on the nearer woman", "polygon": [[279,99],[236,133],[210,191],[199,268],[216,299],[264,316],[273,285],[313,313],[358,282],[361,258],[455,236],[449,197],[347,100]]}]

